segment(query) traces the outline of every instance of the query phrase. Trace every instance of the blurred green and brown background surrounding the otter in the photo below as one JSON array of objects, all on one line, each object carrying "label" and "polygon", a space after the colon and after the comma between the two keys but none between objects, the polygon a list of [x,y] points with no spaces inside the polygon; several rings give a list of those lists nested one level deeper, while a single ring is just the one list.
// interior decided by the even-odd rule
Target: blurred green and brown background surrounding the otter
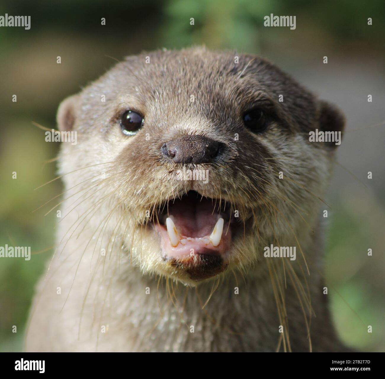
[{"label": "blurred green and brown background surrounding the otter", "polygon": [[[34,190],[55,177],[55,162],[46,161],[59,145],[45,143],[32,121],[55,127],[60,101],[114,65],[110,57],[192,44],[257,53],[346,114],[328,194],[326,283],[341,338],[362,351],[385,350],[385,132],[383,125],[371,127],[385,119],[382,0],[9,0],[0,4],[5,13],[30,15],[31,29],[0,28],[0,246],[39,252],[54,245],[54,212],[32,211],[61,192],[59,180]],[[296,29],[264,27],[270,13],[295,15]],[[34,286],[51,254],[0,260],[0,351],[23,349]]]}]

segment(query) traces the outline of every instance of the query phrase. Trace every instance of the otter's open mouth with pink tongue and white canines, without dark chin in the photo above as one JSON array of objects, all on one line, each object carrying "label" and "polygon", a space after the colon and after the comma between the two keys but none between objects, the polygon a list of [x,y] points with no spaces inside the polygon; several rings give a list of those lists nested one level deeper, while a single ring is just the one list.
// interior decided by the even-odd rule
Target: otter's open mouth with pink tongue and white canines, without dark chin
[{"label": "otter's open mouth with pink tongue and white canines, without dark chin", "polygon": [[195,255],[224,258],[234,227],[228,202],[189,191],[162,208],[154,226],[161,236],[164,259],[184,260]]}]

